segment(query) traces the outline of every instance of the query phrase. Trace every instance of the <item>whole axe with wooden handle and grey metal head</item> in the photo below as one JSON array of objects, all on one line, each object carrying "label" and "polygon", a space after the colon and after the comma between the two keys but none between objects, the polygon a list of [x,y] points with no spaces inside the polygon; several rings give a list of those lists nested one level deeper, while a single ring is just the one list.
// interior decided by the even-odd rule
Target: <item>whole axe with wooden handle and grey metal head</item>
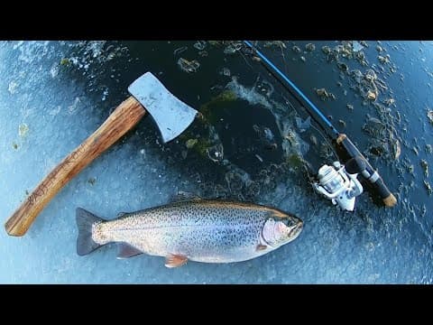
[{"label": "whole axe with wooden handle and grey metal head", "polygon": [[146,72],[128,88],[126,98],[103,125],[57,165],[32,191],[5,223],[10,236],[23,236],[50,200],[97,156],[134,127],[149,113],[161,132],[163,143],[180,135],[197,111],[174,97],[159,79]]}]

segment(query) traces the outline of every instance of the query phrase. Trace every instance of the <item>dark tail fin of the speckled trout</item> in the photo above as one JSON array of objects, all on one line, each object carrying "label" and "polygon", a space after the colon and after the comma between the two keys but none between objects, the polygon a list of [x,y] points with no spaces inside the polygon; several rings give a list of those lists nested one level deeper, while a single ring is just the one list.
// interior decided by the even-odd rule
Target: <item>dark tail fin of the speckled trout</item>
[{"label": "dark tail fin of the speckled trout", "polygon": [[92,228],[95,223],[104,221],[103,218],[95,216],[93,213],[88,212],[85,209],[77,208],[76,212],[77,227],[78,227],[78,238],[77,238],[77,254],[88,255],[95,249],[99,248],[92,238]]}]

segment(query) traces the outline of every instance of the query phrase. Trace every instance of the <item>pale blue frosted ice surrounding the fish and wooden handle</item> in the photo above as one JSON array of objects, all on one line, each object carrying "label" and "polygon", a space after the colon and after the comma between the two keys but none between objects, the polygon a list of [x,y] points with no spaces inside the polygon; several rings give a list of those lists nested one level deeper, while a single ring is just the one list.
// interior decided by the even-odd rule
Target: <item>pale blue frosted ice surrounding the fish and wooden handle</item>
[{"label": "pale blue frosted ice surrounding the fish and wooden handle", "polygon": [[[115,105],[107,86],[98,85],[101,96],[90,95],[85,85],[65,75],[60,64],[65,57],[73,58],[69,65],[80,67],[79,73],[90,73],[88,60],[102,60],[104,42],[82,45],[88,47],[87,59],[77,54],[81,53],[74,50],[77,46],[81,45],[0,42],[3,222],[25,200],[26,191],[90,135]],[[70,55],[71,49],[76,55]],[[106,55],[105,60],[115,55]],[[232,86],[248,89],[240,83]],[[250,96],[254,103],[272,108],[266,98]],[[304,186],[299,174],[285,175],[272,190],[259,195],[259,203],[295,213],[305,223],[298,239],[269,255],[229,265],[188,263],[177,269],[168,269],[161,257],[148,255],[117,260],[115,245],[78,256],[77,207],[115,218],[120,211],[166,203],[178,190],[200,191],[193,172],[176,169],[168,159],[170,151],[155,144],[155,135],[143,136],[138,128],[101,155],[51,200],[26,236],[8,237],[1,229],[0,283],[432,282],[431,228],[426,213],[410,197],[400,195],[398,207],[382,209],[363,195],[355,214],[340,212]],[[203,164],[198,172],[206,174],[208,166]],[[431,215],[431,205],[427,209]]]}]

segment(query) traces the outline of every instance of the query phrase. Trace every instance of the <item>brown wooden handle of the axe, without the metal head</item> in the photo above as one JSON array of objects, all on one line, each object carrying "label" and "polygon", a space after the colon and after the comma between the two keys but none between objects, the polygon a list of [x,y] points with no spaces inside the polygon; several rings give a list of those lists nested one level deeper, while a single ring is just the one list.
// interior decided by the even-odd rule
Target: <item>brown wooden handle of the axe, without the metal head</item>
[{"label": "brown wooden handle of the axe, without the metal head", "polygon": [[43,181],[32,191],[32,194],[15,210],[5,223],[10,236],[23,236],[48,202],[78,172],[92,163],[99,154],[106,151],[122,135],[134,127],[146,114],[144,107],[133,97],[127,98],[108,116],[106,122],[77,149],[63,159]]}]

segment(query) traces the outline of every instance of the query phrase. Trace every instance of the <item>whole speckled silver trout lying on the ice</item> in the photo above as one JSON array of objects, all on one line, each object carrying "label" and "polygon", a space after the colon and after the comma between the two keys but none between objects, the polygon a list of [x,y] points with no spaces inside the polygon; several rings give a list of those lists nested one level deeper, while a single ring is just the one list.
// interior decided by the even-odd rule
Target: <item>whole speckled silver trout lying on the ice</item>
[{"label": "whole speckled silver trout lying on the ice", "polygon": [[259,204],[181,196],[155,208],[120,213],[113,220],[78,208],[77,254],[118,243],[117,258],[165,257],[165,266],[189,260],[234,263],[290,243],[303,228],[300,218]]}]

